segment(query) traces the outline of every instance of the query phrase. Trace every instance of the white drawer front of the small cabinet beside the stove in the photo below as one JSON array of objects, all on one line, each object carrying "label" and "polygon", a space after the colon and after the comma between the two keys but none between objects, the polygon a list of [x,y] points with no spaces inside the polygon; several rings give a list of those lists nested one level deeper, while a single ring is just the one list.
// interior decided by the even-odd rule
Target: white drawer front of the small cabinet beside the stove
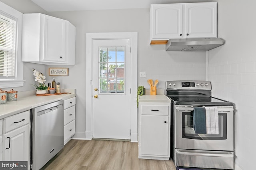
[{"label": "white drawer front of the small cabinet beside the stove", "polygon": [[160,105],[142,105],[141,114],[144,115],[169,115],[169,106],[160,106]]}]

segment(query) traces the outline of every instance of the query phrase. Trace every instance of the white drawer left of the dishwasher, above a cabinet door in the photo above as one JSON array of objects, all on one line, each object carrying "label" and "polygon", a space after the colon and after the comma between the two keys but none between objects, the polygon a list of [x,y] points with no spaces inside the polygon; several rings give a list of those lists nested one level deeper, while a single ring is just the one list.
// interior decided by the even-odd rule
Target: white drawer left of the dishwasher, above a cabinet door
[{"label": "white drawer left of the dishwasher, above a cabinet door", "polygon": [[6,133],[6,132],[9,132],[10,130],[14,130],[20,126],[28,124],[30,121],[29,117],[30,117],[30,112],[26,111],[26,112],[22,112],[22,113],[4,118],[3,132]]}]

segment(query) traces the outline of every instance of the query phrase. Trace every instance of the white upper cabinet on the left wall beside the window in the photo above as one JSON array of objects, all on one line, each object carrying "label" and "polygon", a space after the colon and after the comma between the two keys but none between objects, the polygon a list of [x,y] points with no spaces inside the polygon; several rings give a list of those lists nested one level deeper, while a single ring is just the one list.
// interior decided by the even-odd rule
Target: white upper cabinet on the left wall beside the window
[{"label": "white upper cabinet on the left wall beside the window", "polygon": [[74,65],[76,28],[67,20],[24,14],[22,61],[47,65]]}]

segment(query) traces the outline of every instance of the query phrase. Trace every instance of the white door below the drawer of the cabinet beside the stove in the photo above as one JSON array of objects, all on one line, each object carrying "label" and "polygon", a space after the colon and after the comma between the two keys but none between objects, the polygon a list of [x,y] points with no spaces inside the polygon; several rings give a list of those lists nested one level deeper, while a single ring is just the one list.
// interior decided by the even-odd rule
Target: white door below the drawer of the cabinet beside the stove
[{"label": "white door below the drawer of the cabinet beside the stove", "polygon": [[168,156],[168,116],[142,115],[140,123],[140,154]]}]

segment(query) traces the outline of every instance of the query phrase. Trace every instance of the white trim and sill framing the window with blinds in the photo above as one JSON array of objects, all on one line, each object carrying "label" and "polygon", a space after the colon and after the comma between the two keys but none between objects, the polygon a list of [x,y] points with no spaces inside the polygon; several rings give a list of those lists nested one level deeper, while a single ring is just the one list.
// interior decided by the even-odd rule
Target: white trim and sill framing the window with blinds
[{"label": "white trim and sill framing the window with blinds", "polygon": [[1,88],[21,87],[24,85],[23,80],[23,62],[21,60],[22,47],[22,16],[23,14],[14,8],[0,2],[0,13],[16,19],[16,58],[15,58],[15,76],[14,78],[0,78]]}]

